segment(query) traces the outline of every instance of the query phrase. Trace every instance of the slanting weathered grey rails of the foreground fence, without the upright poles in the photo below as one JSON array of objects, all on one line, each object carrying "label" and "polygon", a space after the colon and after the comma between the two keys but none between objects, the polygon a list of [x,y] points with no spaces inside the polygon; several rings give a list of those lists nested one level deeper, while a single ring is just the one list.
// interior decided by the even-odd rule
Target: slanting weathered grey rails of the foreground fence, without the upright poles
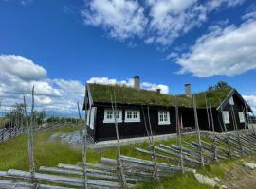
[{"label": "slanting weathered grey rails of the foreground fence, without the upright poles", "polygon": [[[242,148],[247,154],[255,153],[256,151],[256,136],[254,134],[241,134]],[[232,140],[232,145],[229,146],[227,139]],[[237,136],[233,133],[216,137],[216,146],[211,143],[212,138],[202,138],[202,145],[199,146],[197,141],[186,142],[183,141],[182,152],[184,166],[181,166],[180,162],[180,146],[170,144],[163,145],[159,144],[153,146],[155,148],[155,156],[157,161],[153,161],[151,156],[153,152],[151,147],[147,149],[135,148],[137,153],[143,153],[148,155],[148,160],[138,159],[134,157],[120,155],[119,159],[122,162],[123,177],[125,177],[127,187],[135,188],[137,181],[152,181],[154,180],[154,171],[157,177],[163,178],[170,176],[176,172],[194,172],[197,167],[201,166],[201,153],[204,156],[205,163],[213,163],[214,158],[214,147],[217,150],[217,156],[220,160],[229,159],[229,151],[233,158],[242,157],[240,153],[240,147],[238,144]],[[248,149],[250,148],[250,151]],[[99,163],[86,163],[86,176],[88,188],[123,188],[119,178],[119,165],[117,159],[110,159],[101,157]],[[156,167],[156,169],[155,169]],[[77,164],[64,164],[59,163],[57,167],[41,166],[38,172],[35,173],[35,180],[38,182],[38,188],[72,188],[83,186],[83,163]],[[1,180],[2,178],[2,180]],[[11,179],[11,180],[9,180]],[[13,181],[19,180],[19,181]],[[22,180],[22,181],[21,181]],[[30,173],[21,170],[0,171],[0,188],[2,185],[7,184],[3,188],[29,188]],[[51,185],[44,185],[42,182],[47,182]],[[1,185],[2,184],[2,185]],[[55,184],[62,184],[63,187],[55,186]],[[15,187],[14,187],[15,186]]]}]

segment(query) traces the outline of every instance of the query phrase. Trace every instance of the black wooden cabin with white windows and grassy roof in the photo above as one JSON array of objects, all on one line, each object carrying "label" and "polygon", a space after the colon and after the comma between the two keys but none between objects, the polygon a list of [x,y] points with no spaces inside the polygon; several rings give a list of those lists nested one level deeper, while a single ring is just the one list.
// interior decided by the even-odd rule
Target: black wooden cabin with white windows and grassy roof
[{"label": "black wooden cabin with white windows and grassy roof", "polygon": [[[160,94],[159,91],[142,90],[139,89],[139,83],[135,83],[136,88],[120,85],[86,85],[83,110],[87,111],[88,132],[95,142],[117,138],[113,113],[115,102],[119,138],[147,136],[150,125],[153,135],[175,133],[176,104],[179,110],[179,126],[186,131],[195,129],[189,85],[186,85],[186,94],[174,96]],[[247,122],[245,112],[251,109],[235,89],[212,91],[211,96],[207,98],[208,109],[205,93],[195,94],[195,99],[201,130],[214,128],[215,131],[221,132],[225,130],[224,124],[228,130],[233,130],[234,121],[238,129],[245,128]],[[210,113],[210,105],[212,113]]]}]

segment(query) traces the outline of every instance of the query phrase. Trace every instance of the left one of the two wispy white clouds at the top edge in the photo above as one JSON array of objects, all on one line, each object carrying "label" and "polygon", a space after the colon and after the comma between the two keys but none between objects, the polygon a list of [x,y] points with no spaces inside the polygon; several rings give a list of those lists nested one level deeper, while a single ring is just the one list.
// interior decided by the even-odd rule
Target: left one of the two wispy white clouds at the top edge
[{"label": "left one of the two wispy white clouds at the top edge", "polygon": [[137,1],[93,0],[82,10],[86,25],[102,26],[111,37],[126,39],[141,35],[147,19]]}]

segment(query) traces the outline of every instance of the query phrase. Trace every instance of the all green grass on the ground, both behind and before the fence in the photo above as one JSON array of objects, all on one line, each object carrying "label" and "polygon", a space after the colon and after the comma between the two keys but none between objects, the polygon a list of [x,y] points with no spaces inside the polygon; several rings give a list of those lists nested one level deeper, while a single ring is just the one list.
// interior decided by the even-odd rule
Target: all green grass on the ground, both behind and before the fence
[{"label": "all green grass on the ground, both behind and before the fence", "polygon": [[[40,166],[57,166],[58,163],[71,163],[76,164],[82,162],[82,151],[80,148],[75,148],[62,144],[60,141],[50,141],[49,137],[57,132],[72,132],[78,130],[78,126],[69,126],[60,129],[51,129],[41,133],[35,134],[35,164],[38,169]],[[184,140],[191,141],[193,137],[186,137]],[[176,139],[167,141],[156,141],[163,144],[176,143]],[[149,148],[147,143],[121,146],[121,153],[127,156],[137,158],[150,159],[149,156],[137,152],[134,148],[138,146],[141,148]],[[101,150],[88,150],[87,159],[90,163],[98,163],[101,157],[116,158],[116,148],[104,148]],[[20,169],[28,170],[27,159],[27,136],[19,136],[9,140],[8,142],[0,144],[0,170]],[[256,162],[256,156],[250,157],[252,162]],[[160,160],[158,160],[160,161]],[[162,160],[164,162],[164,160]],[[210,176],[224,178],[225,173],[233,166],[241,166],[241,160],[225,161],[218,164],[211,164],[198,172]],[[199,184],[191,174],[186,174],[180,177],[176,174],[173,177],[166,178],[160,181],[164,188],[210,188],[207,185]],[[137,188],[158,188],[158,183],[138,183]]]}]

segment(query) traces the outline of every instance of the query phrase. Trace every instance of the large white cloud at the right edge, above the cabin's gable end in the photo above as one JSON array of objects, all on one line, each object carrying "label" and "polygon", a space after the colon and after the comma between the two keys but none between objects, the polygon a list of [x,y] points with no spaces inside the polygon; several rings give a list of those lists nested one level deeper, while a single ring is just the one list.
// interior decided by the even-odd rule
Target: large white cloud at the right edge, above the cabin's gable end
[{"label": "large white cloud at the right edge, above the cabin's gable end", "polygon": [[196,77],[234,76],[256,68],[256,21],[217,28],[199,38],[191,52],[176,59],[178,73]]}]

